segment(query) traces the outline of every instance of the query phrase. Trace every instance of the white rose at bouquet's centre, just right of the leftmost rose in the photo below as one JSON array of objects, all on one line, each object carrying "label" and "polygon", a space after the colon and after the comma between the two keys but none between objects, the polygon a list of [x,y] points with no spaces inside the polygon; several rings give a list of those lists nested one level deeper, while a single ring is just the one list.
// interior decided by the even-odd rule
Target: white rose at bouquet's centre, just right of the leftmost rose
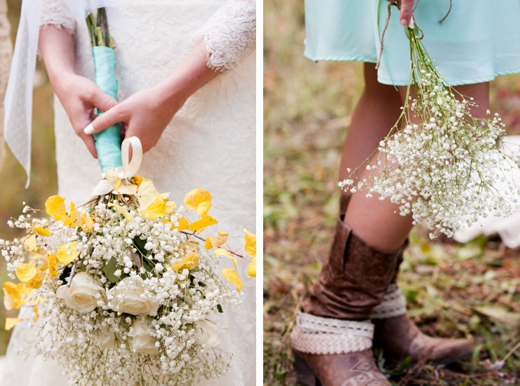
[{"label": "white rose at bouquet's centre, just right of the leftmost rose", "polygon": [[108,295],[114,296],[112,310],[142,317],[156,316],[159,302],[145,296],[145,289],[145,284],[140,277],[125,277],[108,291]]}]

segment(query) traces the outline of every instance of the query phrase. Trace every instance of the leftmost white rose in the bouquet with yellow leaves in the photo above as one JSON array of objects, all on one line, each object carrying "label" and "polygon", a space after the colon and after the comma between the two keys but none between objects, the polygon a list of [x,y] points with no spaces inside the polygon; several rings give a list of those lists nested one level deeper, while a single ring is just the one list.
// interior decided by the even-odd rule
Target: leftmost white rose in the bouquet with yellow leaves
[{"label": "leftmost white rose in the bouquet with yellow leaves", "polygon": [[95,283],[86,272],[78,272],[72,278],[72,284],[60,286],[56,291],[56,297],[65,300],[67,307],[78,312],[91,312],[98,307],[96,295],[103,295],[105,289]]}]

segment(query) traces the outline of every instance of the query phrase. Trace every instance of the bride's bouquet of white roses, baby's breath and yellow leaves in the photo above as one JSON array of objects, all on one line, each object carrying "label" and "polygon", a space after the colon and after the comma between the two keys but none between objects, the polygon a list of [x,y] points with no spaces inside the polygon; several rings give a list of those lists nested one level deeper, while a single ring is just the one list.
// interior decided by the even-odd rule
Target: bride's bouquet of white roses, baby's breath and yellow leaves
[{"label": "bride's bouquet of white roses, baby's breath and yellow leaves", "polygon": [[[232,354],[218,349],[228,328],[212,314],[238,302],[237,259],[255,276],[256,238],[244,229],[245,253],[227,245],[228,234],[205,235],[211,194],[194,189],[176,207],[151,180],[105,178],[113,189],[79,206],[58,196],[46,201],[50,218],[33,218],[26,206],[11,227],[27,236],[0,240],[8,275],[8,310],[27,307],[36,342],[29,350],[53,358],[74,385],[191,385],[229,368]],[[30,308],[29,308],[30,307]],[[32,310],[32,313],[30,312]],[[27,321],[26,321],[27,323]]]}]

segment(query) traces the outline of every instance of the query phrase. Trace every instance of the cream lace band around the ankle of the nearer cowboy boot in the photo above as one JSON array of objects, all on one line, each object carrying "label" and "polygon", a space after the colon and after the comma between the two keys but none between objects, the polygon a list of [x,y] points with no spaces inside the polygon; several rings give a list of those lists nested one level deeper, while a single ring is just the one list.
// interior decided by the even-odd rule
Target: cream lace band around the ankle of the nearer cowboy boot
[{"label": "cream lace band around the ankle of the nearer cowboy boot", "polygon": [[349,321],[316,317],[298,312],[291,331],[291,347],[310,354],[347,354],[372,347],[374,325],[370,321]]}]

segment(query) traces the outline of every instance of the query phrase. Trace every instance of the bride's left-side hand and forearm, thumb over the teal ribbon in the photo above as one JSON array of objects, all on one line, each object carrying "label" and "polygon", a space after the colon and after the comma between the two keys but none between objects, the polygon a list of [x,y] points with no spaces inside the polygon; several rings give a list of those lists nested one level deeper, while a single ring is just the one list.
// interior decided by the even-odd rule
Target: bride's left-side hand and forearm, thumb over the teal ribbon
[{"label": "bride's left-side hand and forearm, thumb over the teal ribbon", "polygon": [[90,79],[74,74],[74,41],[65,29],[51,26],[41,29],[39,47],[54,93],[65,108],[74,131],[97,158],[94,138],[87,135],[84,128],[95,119],[94,108],[107,111],[117,105],[117,101]]}]

